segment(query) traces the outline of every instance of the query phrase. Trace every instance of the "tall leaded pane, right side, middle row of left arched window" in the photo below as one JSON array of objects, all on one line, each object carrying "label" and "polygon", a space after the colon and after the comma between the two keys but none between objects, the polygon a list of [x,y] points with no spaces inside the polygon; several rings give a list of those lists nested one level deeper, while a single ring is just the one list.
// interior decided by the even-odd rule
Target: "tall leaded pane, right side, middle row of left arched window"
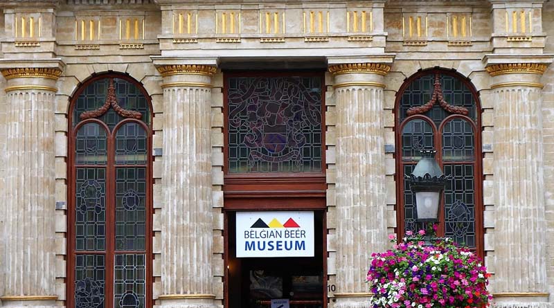
[{"label": "tall leaded pane, right side, middle row of left arched window", "polygon": [[146,169],[116,169],[116,250],[143,251],[146,238]]}]

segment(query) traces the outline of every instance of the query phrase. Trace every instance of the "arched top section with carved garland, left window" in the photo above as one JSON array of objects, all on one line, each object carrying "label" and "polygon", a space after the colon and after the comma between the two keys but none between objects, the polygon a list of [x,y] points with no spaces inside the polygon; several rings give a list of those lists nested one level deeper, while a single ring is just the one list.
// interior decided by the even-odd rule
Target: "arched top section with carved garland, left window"
[{"label": "arched top section with carved garland, left window", "polygon": [[73,127],[91,118],[101,120],[109,129],[125,118],[151,124],[150,102],[144,89],[126,76],[106,74],[92,78],[76,95]]}]

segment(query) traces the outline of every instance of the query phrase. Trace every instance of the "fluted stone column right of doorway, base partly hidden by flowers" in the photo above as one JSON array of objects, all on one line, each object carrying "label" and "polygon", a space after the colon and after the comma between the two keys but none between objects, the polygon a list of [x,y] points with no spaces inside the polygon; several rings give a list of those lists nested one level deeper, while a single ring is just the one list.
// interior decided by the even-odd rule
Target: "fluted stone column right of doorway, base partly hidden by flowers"
[{"label": "fluted stone column right of doorway, base partly hidden by flowers", "polygon": [[330,66],[337,105],[337,302],[367,307],[371,253],[386,249],[384,64]]}]

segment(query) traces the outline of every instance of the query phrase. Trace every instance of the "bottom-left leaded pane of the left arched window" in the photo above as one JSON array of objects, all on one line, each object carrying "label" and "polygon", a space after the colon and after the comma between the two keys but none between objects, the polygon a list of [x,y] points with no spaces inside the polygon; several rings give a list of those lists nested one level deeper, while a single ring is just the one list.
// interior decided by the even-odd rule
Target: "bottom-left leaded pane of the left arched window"
[{"label": "bottom-left leaded pane of the left arched window", "polygon": [[104,255],[75,255],[75,308],[103,308]]}]

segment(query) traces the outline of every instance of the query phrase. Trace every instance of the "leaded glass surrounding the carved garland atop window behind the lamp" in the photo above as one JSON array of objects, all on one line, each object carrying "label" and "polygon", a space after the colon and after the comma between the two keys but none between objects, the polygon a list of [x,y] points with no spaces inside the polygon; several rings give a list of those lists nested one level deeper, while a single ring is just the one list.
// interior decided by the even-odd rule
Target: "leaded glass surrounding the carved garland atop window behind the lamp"
[{"label": "leaded glass surrounding the carved garland atop window behind the lamp", "polygon": [[[399,123],[406,118],[406,111],[414,106],[425,105],[433,96],[435,82],[435,74],[430,73],[424,75],[416,80],[413,80],[411,84],[402,93],[400,101],[400,112],[398,113]],[[440,75],[441,89],[443,90],[443,98],[449,104],[453,106],[462,106],[470,111],[468,115],[473,120],[476,120],[477,111],[475,100],[473,98],[472,91],[465,86],[461,80],[449,75]],[[431,110],[425,112],[425,116],[431,118],[438,126],[443,120],[449,116],[449,112],[445,111],[438,102],[431,108]]]}]

